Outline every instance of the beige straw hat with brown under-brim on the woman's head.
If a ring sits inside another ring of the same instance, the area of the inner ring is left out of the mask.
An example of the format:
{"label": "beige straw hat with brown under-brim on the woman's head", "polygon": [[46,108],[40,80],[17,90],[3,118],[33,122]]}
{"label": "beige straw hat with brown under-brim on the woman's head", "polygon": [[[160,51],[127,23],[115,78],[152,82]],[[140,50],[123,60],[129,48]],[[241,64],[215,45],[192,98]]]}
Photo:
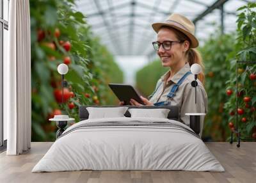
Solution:
{"label": "beige straw hat with brown under-brim on the woman's head", "polygon": [[173,13],[164,22],[156,22],[152,24],[152,28],[156,31],[156,33],[158,33],[162,26],[172,27],[181,31],[191,40],[192,48],[198,47],[198,40],[195,37],[195,25],[186,17],[178,13]]}

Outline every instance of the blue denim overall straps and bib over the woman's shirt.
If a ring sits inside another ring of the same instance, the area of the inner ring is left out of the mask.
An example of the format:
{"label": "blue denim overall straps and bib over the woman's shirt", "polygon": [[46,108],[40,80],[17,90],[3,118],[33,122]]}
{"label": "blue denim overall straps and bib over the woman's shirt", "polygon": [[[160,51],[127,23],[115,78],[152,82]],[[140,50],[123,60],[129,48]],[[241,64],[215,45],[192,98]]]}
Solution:
{"label": "blue denim overall straps and bib over the woman's shirt", "polygon": [[[167,95],[168,98],[172,99],[172,97],[174,97],[174,95],[177,92],[180,84],[184,81],[184,79],[186,79],[186,77],[189,74],[192,74],[192,73],[190,71],[186,72],[186,74],[184,74],[184,76],[182,76],[180,78],[178,83],[173,85],[172,89],[170,90],[170,93],[168,93],[168,95]],[[161,83],[163,83],[163,82],[161,82]],[[158,90],[159,86],[161,86],[161,83],[158,84],[158,86],[156,87],[156,90],[149,97],[152,97],[156,93],[156,91]],[[168,101],[168,100],[154,103],[154,106],[170,106],[170,105],[171,105],[171,101]]]}

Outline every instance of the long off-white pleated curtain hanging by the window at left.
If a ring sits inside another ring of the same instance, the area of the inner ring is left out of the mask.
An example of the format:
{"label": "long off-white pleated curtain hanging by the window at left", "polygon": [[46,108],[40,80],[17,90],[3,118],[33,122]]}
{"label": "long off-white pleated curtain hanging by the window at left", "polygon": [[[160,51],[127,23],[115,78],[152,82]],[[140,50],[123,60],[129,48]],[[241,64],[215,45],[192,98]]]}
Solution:
{"label": "long off-white pleated curtain hanging by the window at left", "polygon": [[10,1],[8,60],[4,63],[4,120],[8,155],[31,146],[31,52],[29,0]]}

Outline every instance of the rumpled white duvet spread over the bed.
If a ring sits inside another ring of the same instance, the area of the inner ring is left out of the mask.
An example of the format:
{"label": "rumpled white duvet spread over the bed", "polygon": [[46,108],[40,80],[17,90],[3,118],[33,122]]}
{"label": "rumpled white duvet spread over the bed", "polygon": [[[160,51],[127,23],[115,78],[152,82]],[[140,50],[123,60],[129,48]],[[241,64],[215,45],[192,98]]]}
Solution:
{"label": "rumpled white duvet spread over the bed", "polygon": [[[93,122],[169,122],[163,118],[101,118],[69,127],[32,172],[72,170],[225,171],[202,139],[179,128],[111,126],[78,128]],[[74,130],[76,129],[76,130]]]}

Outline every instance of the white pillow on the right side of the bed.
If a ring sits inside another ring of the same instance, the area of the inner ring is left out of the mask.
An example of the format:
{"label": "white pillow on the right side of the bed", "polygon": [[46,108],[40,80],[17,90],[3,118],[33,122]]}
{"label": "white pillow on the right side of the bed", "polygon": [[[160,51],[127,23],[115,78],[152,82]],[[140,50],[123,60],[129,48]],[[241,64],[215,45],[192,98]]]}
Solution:
{"label": "white pillow on the right side of the bed", "polygon": [[150,118],[167,118],[170,109],[128,109],[131,118],[150,117]]}

